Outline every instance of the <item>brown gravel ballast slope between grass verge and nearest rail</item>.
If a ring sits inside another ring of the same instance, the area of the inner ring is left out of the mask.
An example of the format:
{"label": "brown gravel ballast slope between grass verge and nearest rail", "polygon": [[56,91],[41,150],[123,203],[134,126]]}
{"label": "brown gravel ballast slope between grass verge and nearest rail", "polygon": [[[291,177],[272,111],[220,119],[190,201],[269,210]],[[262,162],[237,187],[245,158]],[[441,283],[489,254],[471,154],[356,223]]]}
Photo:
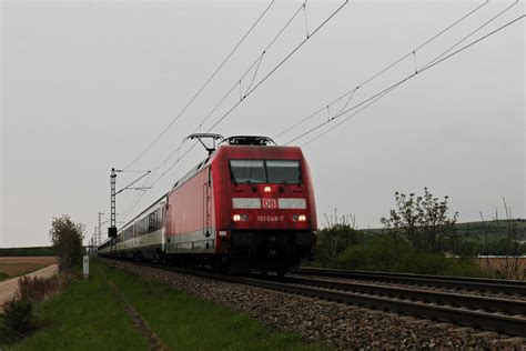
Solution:
{"label": "brown gravel ballast slope between grass verge and nearest rail", "polygon": [[115,262],[143,279],[243,311],[271,328],[299,332],[306,341],[336,349],[502,349],[526,350],[526,340],[449,323],[414,319],[353,305],[232,284],[155,268]]}

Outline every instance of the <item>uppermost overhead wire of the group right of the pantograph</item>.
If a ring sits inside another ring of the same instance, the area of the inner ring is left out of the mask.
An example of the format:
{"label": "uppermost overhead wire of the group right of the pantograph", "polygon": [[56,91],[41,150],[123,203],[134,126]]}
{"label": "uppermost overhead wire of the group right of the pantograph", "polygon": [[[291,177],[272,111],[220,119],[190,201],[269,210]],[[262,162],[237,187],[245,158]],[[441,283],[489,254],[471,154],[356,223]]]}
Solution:
{"label": "uppermost overhead wire of the group right of the pantograph", "polygon": [[[429,44],[431,42],[435,41],[436,39],[438,39],[441,36],[443,36],[444,33],[448,32],[451,29],[453,29],[455,26],[457,26],[458,23],[461,23],[462,21],[464,21],[465,19],[469,18],[471,16],[473,16],[474,13],[476,13],[477,11],[479,11],[483,7],[485,7],[489,1],[486,0],[485,2],[483,2],[482,4],[478,4],[476,6],[474,9],[469,10],[467,13],[463,14],[459,19],[457,19],[456,21],[454,21],[452,24],[447,26],[446,28],[444,28],[443,30],[441,30],[438,33],[436,33],[435,36],[433,36],[432,38],[427,39],[425,42],[421,43],[419,46],[417,46],[415,49],[411,50],[408,53],[404,54],[403,57],[398,58],[397,60],[395,60],[394,62],[387,64],[385,68],[381,69],[378,72],[374,73],[373,76],[371,76],[370,78],[365,79],[363,82],[361,82],[360,84],[355,86],[353,89],[346,91],[345,93],[343,93],[342,96],[337,97],[336,99],[332,100],[331,102],[324,104],[322,108],[320,108],[318,110],[312,112],[311,114],[306,116],[305,118],[302,118],[300,119],[297,122],[293,123],[292,126],[287,127],[286,129],[284,129],[283,131],[281,131],[280,133],[277,133],[276,136],[272,137],[272,139],[276,140],[277,138],[284,136],[285,133],[287,133],[289,131],[295,129],[296,127],[305,123],[306,121],[311,120],[312,118],[314,118],[315,116],[317,116],[320,112],[326,110],[328,107],[337,103],[338,101],[341,101],[342,99],[346,98],[346,97],[350,97],[347,99],[347,102],[344,104],[344,107],[338,111],[338,113],[345,109],[345,107],[348,104],[348,102],[351,101],[352,97],[355,94],[355,92],[360,89],[360,88],[363,88],[365,87],[366,84],[368,84],[370,82],[372,82],[374,79],[376,79],[377,77],[382,76],[383,73],[387,72],[388,70],[391,70],[392,68],[394,68],[395,66],[397,66],[398,63],[401,63],[402,61],[404,61],[405,59],[407,59],[408,57],[411,56],[414,56],[416,53],[416,51],[423,49],[424,47],[426,47],[427,44]],[[336,114],[338,114],[336,113]]]}

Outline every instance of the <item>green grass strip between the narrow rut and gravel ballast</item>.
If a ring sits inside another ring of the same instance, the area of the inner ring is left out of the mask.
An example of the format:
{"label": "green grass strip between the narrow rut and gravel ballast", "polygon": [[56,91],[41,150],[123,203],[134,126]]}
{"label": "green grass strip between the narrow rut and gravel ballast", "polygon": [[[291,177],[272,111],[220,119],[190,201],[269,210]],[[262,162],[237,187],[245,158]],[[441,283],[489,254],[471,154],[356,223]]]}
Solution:
{"label": "green grass strip between the narrow rut and gravel ballast", "polygon": [[172,350],[322,350],[244,313],[95,263]]}

